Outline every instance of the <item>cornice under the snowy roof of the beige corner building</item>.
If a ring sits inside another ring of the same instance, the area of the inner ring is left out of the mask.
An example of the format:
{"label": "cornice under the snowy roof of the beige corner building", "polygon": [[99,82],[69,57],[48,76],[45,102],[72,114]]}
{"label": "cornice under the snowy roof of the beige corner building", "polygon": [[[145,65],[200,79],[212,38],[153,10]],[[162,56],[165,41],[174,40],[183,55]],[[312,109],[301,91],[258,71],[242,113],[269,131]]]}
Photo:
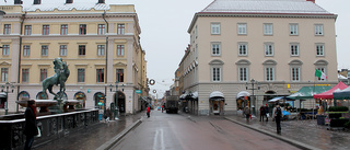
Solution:
{"label": "cornice under the snowy roof of the beige corner building", "polygon": [[334,19],[337,14],[323,13],[245,13],[245,12],[198,12],[195,14],[187,33],[190,34],[198,18],[288,18],[288,19]]}

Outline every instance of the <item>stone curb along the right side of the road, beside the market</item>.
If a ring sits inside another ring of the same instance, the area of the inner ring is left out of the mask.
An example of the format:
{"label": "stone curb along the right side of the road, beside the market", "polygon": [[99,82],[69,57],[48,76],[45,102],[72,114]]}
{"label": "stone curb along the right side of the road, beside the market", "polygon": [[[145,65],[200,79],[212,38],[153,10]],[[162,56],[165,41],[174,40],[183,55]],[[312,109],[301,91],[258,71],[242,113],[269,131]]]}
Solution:
{"label": "stone curb along the right side of the road, beside the market", "polygon": [[232,118],[229,118],[229,117],[224,117],[224,118],[228,119],[228,120],[230,120],[230,122],[232,122],[232,123],[235,123],[235,124],[238,124],[238,125],[241,125],[241,126],[244,126],[244,127],[246,127],[246,128],[249,128],[249,129],[259,131],[259,132],[261,132],[261,134],[265,134],[265,135],[267,135],[267,136],[270,136],[270,137],[277,138],[277,139],[279,139],[279,140],[282,140],[282,141],[284,141],[284,142],[287,142],[287,143],[290,143],[290,145],[295,146],[295,147],[298,147],[298,148],[301,148],[301,149],[303,149],[303,150],[320,150],[320,149],[315,148],[315,147],[313,147],[313,146],[308,146],[308,145],[305,145],[305,143],[303,143],[303,142],[300,142],[300,141],[290,139],[290,138],[285,138],[285,137],[282,137],[282,136],[272,134],[272,132],[270,132],[270,131],[266,131],[266,130],[262,130],[262,129],[253,127],[253,126],[245,125],[245,124],[243,124],[243,123],[241,123],[241,122],[237,122],[237,120],[232,119]]}

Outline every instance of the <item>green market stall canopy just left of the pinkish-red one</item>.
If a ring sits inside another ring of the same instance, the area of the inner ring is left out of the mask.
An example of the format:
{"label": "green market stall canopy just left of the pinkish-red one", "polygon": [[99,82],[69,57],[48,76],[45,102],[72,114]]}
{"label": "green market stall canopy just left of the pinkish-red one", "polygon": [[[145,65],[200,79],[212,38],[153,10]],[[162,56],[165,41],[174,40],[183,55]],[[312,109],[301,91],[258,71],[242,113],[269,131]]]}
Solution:
{"label": "green market stall canopy just left of the pinkish-red one", "polygon": [[314,99],[314,94],[323,93],[330,90],[329,85],[315,85],[315,86],[303,86],[296,93],[287,96],[287,99],[291,100],[307,100]]}

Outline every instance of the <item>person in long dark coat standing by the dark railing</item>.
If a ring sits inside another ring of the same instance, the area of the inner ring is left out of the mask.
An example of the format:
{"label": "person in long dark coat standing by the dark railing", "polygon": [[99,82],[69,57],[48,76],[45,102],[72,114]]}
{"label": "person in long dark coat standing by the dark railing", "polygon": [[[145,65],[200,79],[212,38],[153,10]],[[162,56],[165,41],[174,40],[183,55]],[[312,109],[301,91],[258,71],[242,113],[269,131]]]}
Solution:
{"label": "person in long dark coat standing by the dark railing", "polygon": [[38,135],[37,126],[36,126],[36,107],[35,101],[27,101],[27,107],[24,113],[25,123],[24,123],[24,131],[25,135],[25,145],[24,150],[30,150],[33,146],[34,136]]}

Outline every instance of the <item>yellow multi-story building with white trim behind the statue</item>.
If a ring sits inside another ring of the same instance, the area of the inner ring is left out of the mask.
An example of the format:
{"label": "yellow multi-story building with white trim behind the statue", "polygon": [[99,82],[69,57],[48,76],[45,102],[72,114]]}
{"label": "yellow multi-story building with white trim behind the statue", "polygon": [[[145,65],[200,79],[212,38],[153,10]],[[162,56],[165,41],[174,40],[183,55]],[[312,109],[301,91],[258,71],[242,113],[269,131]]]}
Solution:
{"label": "yellow multi-story building with white trim behind the statue", "polygon": [[[70,70],[68,100],[80,100],[86,108],[113,103],[126,114],[141,108],[140,97],[149,90],[133,4],[105,0],[8,0],[0,4],[5,12],[0,25],[0,83],[15,85],[8,96],[9,112],[21,109],[18,100],[43,99],[42,81],[55,74],[52,60],[58,57]],[[54,86],[54,92],[58,90]]]}

